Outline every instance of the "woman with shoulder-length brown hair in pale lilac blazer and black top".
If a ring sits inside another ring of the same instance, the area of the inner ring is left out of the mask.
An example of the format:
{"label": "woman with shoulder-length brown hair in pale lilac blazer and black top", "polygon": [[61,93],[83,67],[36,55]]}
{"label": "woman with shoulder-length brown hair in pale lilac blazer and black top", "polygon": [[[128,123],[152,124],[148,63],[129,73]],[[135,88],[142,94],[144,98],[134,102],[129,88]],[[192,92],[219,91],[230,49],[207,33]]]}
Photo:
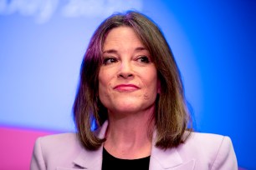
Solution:
{"label": "woman with shoulder-length brown hair in pale lilac blazer and black top", "polygon": [[96,29],[74,122],[77,133],[38,138],[31,169],[238,169],[230,138],[187,130],[177,63],[141,13],[115,14]]}

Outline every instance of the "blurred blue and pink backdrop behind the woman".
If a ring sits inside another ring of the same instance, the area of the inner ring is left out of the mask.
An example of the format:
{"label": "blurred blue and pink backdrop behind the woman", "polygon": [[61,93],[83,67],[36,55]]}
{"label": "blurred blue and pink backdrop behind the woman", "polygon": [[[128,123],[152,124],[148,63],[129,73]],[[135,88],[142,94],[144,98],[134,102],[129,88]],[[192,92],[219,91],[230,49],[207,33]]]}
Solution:
{"label": "blurred blue and pink backdrop behind the woman", "polygon": [[131,9],[153,19],[172,47],[195,130],[229,136],[239,166],[256,169],[256,1],[249,0],[0,0],[0,168],[12,152],[17,163],[30,155],[38,136],[75,131],[72,105],[90,37],[110,14]]}

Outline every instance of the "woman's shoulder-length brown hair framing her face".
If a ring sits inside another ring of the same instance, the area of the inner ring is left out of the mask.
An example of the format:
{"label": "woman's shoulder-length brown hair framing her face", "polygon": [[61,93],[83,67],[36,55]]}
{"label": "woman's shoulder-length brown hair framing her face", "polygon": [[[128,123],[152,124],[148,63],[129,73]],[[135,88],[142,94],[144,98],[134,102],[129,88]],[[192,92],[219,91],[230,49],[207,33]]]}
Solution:
{"label": "woman's shoulder-length brown hair framing her face", "polygon": [[[183,143],[188,122],[182,78],[172,50],[160,28],[144,14],[129,11],[106,18],[95,30],[84,54],[80,69],[80,82],[74,100],[74,122],[80,142],[84,148],[100,148],[105,139],[97,138],[91,130],[93,120],[99,128],[108,118],[107,108],[99,100],[99,70],[102,64],[102,47],[107,33],[121,26],[133,28],[141,42],[149,50],[156,65],[157,76],[161,82],[161,93],[156,99],[156,147],[166,149]],[[189,134],[189,133],[187,133]]]}

